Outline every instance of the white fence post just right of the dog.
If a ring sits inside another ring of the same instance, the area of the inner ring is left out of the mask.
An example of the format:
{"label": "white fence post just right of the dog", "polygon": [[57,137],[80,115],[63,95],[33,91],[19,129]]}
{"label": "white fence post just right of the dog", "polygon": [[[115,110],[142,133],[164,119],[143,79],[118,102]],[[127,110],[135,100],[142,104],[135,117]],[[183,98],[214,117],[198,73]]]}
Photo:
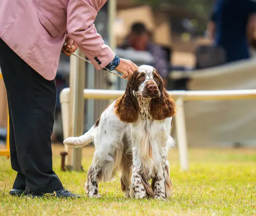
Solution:
{"label": "white fence post just right of the dog", "polygon": [[188,162],[188,147],[187,147],[187,137],[186,137],[186,124],[184,115],[184,101],[182,97],[176,100],[177,114],[175,116],[175,125],[177,131],[177,141],[180,156],[180,167],[181,170],[189,169]]}

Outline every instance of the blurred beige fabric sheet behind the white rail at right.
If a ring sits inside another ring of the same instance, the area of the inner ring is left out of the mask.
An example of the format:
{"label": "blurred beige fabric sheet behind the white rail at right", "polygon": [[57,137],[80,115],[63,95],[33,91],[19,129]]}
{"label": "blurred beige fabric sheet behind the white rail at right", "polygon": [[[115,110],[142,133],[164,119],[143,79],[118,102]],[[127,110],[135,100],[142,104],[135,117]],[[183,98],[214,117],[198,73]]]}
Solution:
{"label": "blurred beige fabric sheet behind the white rail at right", "polygon": [[[256,89],[253,60],[204,69],[187,76],[189,90]],[[256,146],[256,100],[187,101],[184,104],[189,146]]]}

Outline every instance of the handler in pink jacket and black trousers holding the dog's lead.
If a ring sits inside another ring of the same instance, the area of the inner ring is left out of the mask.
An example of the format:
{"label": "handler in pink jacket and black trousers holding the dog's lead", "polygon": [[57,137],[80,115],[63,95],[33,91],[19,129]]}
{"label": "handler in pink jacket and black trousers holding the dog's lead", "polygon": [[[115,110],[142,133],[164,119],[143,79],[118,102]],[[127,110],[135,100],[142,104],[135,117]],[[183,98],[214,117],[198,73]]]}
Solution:
{"label": "handler in pink jacket and black trousers holding the dog's lead", "polygon": [[105,3],[0,0],[0,67],[9,103],[11,164],[17,172],[12,195],[80,197],[65,190],[52,170],[54,79],[61,50],[70,55],[78,47],[96,69],[115,69],[124,78],[133,74],[137,66],[116,56],[96,32],[93,22]]}

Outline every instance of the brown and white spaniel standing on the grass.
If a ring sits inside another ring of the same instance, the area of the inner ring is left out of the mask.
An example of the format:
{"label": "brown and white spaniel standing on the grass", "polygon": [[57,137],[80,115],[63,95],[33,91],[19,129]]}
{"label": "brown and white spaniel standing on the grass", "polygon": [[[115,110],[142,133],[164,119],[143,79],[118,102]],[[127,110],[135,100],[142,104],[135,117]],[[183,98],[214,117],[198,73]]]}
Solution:
{"label": "brown and white spaniel standing on the grass", "polygon": [[64,140],[73,147],[94,142],[93,164],[85,183],[87,194],[100,197],[98,181],[110,181],[119,171],[126,197],[168,198],[172,182],[167,152],[174,145],[171,130],[175,112],[175,103],[157,70],[140,66],[124,95],[105,109],[88,132]]}

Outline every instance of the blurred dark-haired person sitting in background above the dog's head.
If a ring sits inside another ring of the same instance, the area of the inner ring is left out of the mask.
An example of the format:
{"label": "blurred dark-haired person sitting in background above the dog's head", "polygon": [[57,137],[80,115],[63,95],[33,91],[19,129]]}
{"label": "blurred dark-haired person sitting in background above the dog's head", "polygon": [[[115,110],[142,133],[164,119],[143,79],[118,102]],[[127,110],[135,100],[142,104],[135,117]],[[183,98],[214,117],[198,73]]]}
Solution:
{"label": "blurred dark-haired person sitting in background above the dog's head", "polygon": [[131,33],[125,38],[120,48],[133,48],[137,51],[148,51],[154,58],[154,64],[151,66],[157,69],[160,76],[163,78],[164,87],[167,87],[169,68],[167,53],[150,40],[150,34],[143,23],[134,23],[131,26]]}

